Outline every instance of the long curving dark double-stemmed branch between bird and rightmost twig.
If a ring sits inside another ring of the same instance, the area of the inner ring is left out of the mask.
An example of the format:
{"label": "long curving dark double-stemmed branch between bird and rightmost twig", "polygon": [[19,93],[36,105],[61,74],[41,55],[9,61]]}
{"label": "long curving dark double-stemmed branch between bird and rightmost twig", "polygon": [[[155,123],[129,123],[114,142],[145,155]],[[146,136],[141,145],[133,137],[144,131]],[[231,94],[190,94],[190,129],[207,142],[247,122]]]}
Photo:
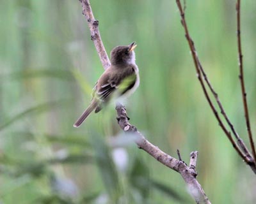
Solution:
{"label": "long curving dark double-stemmed branch between bird and rightmost twig", "polygon": [[[192,57],[193,57],[195,68],[196,68],[197,77],[198,77],[200,85],[201,85],[201,87],[202,87],[202,89],[204,91],[205,98],[207,99],[207,101],[208,101],[208,103],[209,103],[209,105],[210,105],[210,107],[212,109],[212,112],[214,113],[216,119],[218,120],[218,122],[219,122],[221,128],[223,129],[225,135],[227,136],[228,140],[230,140],[230,142],[232,143],[232,146],[234,147],[234,149],[237,151],[239,156],[241,156],[243,158],[243,160],[248,165],[250,165],[250,167],[252,168],[253,172],[256,173],[255,164],[253,162],[252,156],[250,155],[250,152],[246,148],[246,145],[244,144],[243,140],[237,134],[236,130],[234,129],[233,124],[228,119],[227,114],[225,113],[225,110],[223,109],[223,106],[221,105],[220,99],[218,98],[218,94],[216,93],[216,91],[214,91],[211,83],[209,82],[209,80],[207,78],[207,75],[205,74],[204,68],[202,67],[202,64],[200,63],[200,61],[198,59],[198,55],[197,55],[197,52],[196,52],[196,49],[195,49],[195,44],[194,44],[193,40],[191,39],[191,37],[189,35],[188,26],[186,24],[185,13],[184,13],[184,10],[183,10],[183,8],[181,6],[181,3],[180,3],[179,0],[176,0],[176,3],[177,3],[177,6],[179,8],[179,11],[180,11],[181,23],[182,23],[182,25],[184,27],[184,31],[185,31],[185,34],[186,34],[186,39],[188,40],[189,48],[191,50],[191,54],[192,54]],[[220,115],[218,114],[215,106],[213,105],[213,103],[211,101],[211,98],[209,97],[209,94],[208,94],[207,89],[205,87],[202,75],[203,75],[206,84],[208,85],[209,89],[211,90],[212,95],[214,96],[214,98],[215,98],[215,100],[216,100],[216,102],[217,102],[217,104],[218,104],[218,106],[219,106],[219,108],[221,110],[221,114],[224,116],[225,120],[228,123],[228,126],[230,127],[230,129],[232,130],[232,133],[236,137],[237,143],[234,142],[234,139],[232,138],[230,132],[227,130],[227,128],[223,124],[223,121],[221,120]],[[241,149],[239,147],[241,147]],[[243,152],[242,152],[242,150],[243,150]]]}

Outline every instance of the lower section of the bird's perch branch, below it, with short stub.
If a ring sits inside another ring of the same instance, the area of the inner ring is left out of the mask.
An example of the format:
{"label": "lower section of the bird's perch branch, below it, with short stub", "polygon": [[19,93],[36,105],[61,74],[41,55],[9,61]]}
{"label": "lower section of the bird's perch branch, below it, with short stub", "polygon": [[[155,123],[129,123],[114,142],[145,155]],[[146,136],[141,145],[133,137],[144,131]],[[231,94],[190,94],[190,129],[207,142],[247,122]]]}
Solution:
{"label": "lower section of the bird's perch branch, below it, with short stub", "polygon": [[193,196],[193,198],[195,198],[196,203],[211,203],[205,195],[204,189],[202,189],[202,187],[196,180],[197,173],[195,173],[195,167],[197,152],[191,152],[191,164],[190,166],[187,166],[186,163],[181,161],[179,153],[179,159],[175,159],[174,157],[163,152],[152,143],[148,142],[148,140],[137,130],[137,128],[129,123],[127,113],[123,105],[116,105],[116,112],[118,115],[116,119],[118,120],[120,128],[122,128],[125,133],[133,133],[134,135],[136,135],[137,138],[135,140],[135,143],[140,149],[143,149],[145,152],[150,154],[157,161],[164,164],[168,168],[171,168],[172,170],[180,173],[188,186],[189,193]]}

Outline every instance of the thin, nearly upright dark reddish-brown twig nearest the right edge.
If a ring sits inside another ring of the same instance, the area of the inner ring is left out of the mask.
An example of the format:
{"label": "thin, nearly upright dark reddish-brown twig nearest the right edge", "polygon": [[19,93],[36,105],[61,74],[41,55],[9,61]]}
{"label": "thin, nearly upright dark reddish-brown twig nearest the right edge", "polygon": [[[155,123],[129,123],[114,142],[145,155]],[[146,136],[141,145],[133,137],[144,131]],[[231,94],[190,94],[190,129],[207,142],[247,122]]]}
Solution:
{"label": "thin, nearly upright dark reddish-brown twig nearest the right edge", "polygon": [[255,152],[255,145],[253,142],[252,137],[252,131],[251,131],[251,125],[250,125],[250,117],[248,112],[248,105],[247,105],[247,99],[246,99],[246,90],[244,86],[244,73],[243,73],[243,54],[242,54],[242,46],[241,46],[241,20],[240,20],[240,0],[237,0],[236,3],[236,17],[237,17],[237,50],[238,50],[238,60],[239,60],[239,80],[241,84],[241,91],[242,91],[242,97],[243,97],[243,105],[244,105],[244,117],[246,121],[246,127],[247,132],[250,140],[250,145],[252,149],[253,159],[254,163],[256,164],[256,152]]}

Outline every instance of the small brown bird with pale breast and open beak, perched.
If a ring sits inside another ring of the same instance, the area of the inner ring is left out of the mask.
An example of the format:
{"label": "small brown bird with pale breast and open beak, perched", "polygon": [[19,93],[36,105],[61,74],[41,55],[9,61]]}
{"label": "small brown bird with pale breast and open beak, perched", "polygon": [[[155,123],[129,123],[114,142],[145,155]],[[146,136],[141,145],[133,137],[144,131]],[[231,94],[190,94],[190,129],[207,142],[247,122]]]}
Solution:
{"label": "small brown bird with pale breast and open beak, perched", "polygon": [[127,98],[140,85],[139,69],[135,62],[132,42],[127,46],[117,46],[111,50],[111,66],[97,80],[92,93],[92,101],[74,123],[78,128],[93,110],[98,113],[111,98]]}

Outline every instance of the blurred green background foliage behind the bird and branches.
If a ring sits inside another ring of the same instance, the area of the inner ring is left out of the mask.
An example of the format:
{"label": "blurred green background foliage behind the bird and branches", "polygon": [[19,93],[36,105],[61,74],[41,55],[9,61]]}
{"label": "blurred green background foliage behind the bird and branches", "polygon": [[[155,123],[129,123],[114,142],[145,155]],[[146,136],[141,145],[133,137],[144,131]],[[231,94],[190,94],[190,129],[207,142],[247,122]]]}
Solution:
{"label": "blurred green background foliage behind the bird and branches", "polygon": [[[94,0],[109,54],[136,41],[141,84],[131,123],[171,156],[199,151],[198,181],[212,203],[253,203],[256,179],[218,126],[196,78],[175,1]],[[242,1],[244,77],[255,135],[256,4]],[[198,55],[246,144],[235,1],[188,1]],[[77,0],[0,2],[0,202],[194,203],[180,175],[124,136],[115,107],[72,124],[102,65]],[[249,147],[249,146],[248,146]]]}

